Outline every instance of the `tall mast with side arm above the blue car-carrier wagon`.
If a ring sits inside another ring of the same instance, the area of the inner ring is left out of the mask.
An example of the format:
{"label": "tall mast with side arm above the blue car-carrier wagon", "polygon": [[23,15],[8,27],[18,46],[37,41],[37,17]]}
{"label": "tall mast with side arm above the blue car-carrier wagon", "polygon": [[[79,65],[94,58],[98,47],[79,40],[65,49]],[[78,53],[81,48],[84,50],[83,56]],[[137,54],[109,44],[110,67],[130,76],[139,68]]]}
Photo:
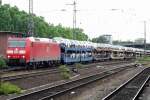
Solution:
{"label": "tall mast with side arm above the blue car-carrier wagon", "polygon": [[66,5],[72,5],[73,6],[73,39],[76,39],[76,16],[77,16],[77,3],[74,0],[73,4],[66,4]]}

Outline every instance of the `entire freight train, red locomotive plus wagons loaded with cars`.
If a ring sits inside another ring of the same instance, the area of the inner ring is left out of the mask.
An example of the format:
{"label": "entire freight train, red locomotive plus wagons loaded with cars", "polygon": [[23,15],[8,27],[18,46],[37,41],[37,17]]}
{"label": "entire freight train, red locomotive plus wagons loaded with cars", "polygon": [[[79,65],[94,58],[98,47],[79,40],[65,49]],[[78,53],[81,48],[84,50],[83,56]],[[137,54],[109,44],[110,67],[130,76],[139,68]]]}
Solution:
{"label": "entire freight train, red locomotive plus wagons loaded with cars", "polygon": [[61,37],[9,38],[7,47],[9,64],[39,65],[71,64],[105,60],[135,59],[144,54],[142,49],[69,40]]}

